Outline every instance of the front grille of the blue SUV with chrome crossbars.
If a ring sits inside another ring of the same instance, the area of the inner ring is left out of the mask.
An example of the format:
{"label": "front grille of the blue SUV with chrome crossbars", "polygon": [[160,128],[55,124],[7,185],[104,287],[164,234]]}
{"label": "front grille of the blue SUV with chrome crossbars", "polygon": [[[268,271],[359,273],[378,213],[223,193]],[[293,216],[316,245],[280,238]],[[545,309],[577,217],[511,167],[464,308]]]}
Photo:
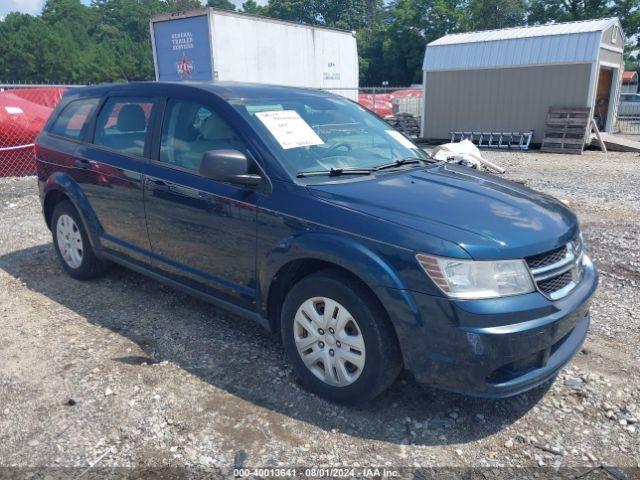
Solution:
{"label": "front grille of the blue SUV with chrome crossbars", "polygon": [[525,259],[543,295],[558,300],[578,285],[582,274],[582,250],[582,240],[578,237],[563,247]]}

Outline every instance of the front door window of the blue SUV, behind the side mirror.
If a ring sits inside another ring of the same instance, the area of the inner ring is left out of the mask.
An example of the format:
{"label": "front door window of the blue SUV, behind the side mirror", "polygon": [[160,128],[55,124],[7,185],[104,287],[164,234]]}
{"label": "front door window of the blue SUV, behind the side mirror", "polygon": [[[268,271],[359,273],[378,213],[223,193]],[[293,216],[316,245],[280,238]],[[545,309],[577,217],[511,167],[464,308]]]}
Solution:
{"label": "front door window of the blue SUV, behind the side mirror", "polygon": [[246,151],[227,122],[198,102],[169,100],[162,125],[161,162],[198,171],[205,152],[224,149]]}

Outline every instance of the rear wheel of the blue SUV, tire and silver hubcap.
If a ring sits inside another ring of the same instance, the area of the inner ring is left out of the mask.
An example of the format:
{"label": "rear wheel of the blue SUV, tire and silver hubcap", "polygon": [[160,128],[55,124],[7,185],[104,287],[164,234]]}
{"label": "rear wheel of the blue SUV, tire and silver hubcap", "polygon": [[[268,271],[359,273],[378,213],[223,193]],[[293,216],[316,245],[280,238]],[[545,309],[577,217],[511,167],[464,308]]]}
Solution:
{"label": "rear wheel of the blue SUV, tire and silver hubcap", "polygon": [[90,280],[107,270],[107,263],[96,257],[80,215],[68,200],[58,203],[53,210],[51,232],[53,246],[69,276]]}

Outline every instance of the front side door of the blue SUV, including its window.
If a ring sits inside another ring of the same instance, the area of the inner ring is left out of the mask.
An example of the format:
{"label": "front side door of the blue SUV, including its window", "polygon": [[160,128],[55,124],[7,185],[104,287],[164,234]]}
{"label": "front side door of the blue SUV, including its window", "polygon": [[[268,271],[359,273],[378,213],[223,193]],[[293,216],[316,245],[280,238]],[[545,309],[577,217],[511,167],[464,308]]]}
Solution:
{"label": "front side door of the blue SUV, including its window", "polygon": [[258,193],[198,174],[209,150],[246,151],[210,106],[170,99],[145,178],[153,268],[184,285],[255,308]]}

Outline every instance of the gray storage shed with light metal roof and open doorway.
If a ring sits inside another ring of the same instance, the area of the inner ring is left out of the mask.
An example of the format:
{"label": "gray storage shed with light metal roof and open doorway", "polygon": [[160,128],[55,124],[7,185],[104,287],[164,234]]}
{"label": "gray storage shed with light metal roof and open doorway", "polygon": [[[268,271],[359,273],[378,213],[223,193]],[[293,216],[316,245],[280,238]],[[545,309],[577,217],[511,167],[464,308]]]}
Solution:
{"label": "gray storage shed with light metal roof and open doorway", "polygon": [[617,18],[446,35],[427,45],[422,137],[453,131],[544,137],[550,107],[589,107],[611,131],[622,83]]}

